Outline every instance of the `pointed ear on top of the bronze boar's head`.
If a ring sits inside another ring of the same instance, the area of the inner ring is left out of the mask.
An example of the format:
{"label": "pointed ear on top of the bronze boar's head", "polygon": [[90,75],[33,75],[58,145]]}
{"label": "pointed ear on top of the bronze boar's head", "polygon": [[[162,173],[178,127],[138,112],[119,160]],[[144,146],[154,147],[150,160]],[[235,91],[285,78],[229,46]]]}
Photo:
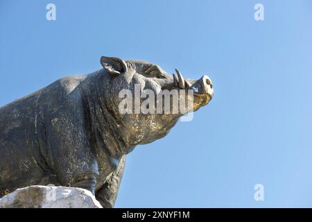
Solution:
{"label": "pointed ear on top of the bronze boar's head", "polygon": [[106,69],[106,71],[114,76],[123,74],[127,70],[127,65],[125,64],[125,61],[123,61],[121,58],[102,56],[101,65],[104,69]]}

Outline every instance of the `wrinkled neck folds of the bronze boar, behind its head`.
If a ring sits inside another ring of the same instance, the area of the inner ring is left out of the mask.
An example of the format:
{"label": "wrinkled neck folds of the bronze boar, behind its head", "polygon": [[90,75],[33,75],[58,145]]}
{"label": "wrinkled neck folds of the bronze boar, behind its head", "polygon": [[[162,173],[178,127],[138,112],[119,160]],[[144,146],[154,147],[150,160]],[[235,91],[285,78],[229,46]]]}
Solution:
{"label": "wrinkled neck folds of the bronze boar, behind its head", "polygon": [[[83,94],[85,100],[85,117],[89,129],[92,132],[92,141],[97,148],[101,148],[111,157],[119,159],[121,155],[127,154],[134,147],[127,147],[121,137],[122,130],[116,126],[122,126],[116,118],[116,113],[112,110],[112,103],[105,98],[107,93],[103,87],[102,80],[99,79],[99,72],[90,74],[83,84]],[[108,105],[110,105],[110,107]]]}

